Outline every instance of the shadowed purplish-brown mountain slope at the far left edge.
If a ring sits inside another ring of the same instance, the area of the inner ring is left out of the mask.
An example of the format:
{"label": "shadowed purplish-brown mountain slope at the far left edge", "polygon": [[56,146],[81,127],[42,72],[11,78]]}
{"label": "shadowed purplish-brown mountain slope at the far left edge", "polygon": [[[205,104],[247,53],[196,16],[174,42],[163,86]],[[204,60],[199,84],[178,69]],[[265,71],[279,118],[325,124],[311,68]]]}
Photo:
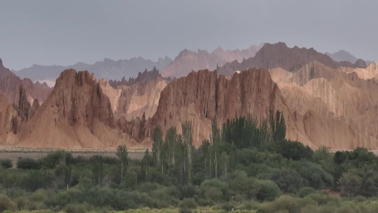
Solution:
{"label": "shadowed purplish-brown mountain slope at the far left edge", "polygon": [[9,69],[3,66],[0,59],[0,93],[7,97],[9,103],[17,104],[19,102],[19,87],[22,85],[26,90],[26,96],[30,104],[34,99],[38,99],[40,103],[46,100],[51,88],[45,83],[34,84],[29,78],[21,80],[17,75],[13,74]]}

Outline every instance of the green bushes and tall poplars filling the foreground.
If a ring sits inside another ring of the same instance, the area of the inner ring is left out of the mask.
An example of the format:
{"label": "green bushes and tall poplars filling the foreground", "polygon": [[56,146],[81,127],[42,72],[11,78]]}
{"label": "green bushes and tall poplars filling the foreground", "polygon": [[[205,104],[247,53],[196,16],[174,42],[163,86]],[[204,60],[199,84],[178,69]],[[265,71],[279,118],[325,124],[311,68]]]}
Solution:
{"label": "green bushes and tall poplars filling the foreground", "polygon": [[[222,128],[219,128],[221,126]],[[0,160],[0,212],[358,212],[378,209],[378,157],[367,149],[331,153],[285,139],[282,114],[212,121],[196,149],[182,134],[153,131],[151,152],[131,160],[58,151],[17,168]],[[4,162],[4,163],[3,163]]]}

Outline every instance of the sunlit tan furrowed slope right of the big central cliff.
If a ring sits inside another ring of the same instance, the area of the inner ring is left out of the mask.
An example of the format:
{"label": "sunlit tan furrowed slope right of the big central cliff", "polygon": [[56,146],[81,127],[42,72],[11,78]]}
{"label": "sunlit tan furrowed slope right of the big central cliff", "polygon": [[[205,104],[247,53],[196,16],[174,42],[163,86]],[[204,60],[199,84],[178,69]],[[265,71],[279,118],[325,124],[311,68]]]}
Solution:
{"label": "sunlit tan furrowed slope right of the big central cliff", "polygon": [[[314,70],[313,77],[294,78],[309,68]],[[290,110],[304,115],[297,126],[304,127],[304,135],[315,145],[377,149],[378,81],[364,80],[356,72],[334,70],[318,62],[306,64],[293,77],[273,79]]]}

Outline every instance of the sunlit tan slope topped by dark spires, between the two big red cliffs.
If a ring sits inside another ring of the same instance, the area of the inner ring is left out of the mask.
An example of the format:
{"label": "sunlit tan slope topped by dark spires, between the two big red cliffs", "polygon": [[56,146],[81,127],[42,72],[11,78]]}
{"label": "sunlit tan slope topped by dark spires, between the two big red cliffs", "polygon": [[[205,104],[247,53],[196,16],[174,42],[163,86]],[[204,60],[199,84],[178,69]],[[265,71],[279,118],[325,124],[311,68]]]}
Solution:
{"label": "sunlit tan slope topped by dark spires, between the two big red cliffs", "polygon": [[136,117],[152,117],[158,107],[160,92],[169,83],[154,67],[151,71],[139,72],[137,78],[109,82],[101,79],[100,86],[110,99],[115,117],[125,116],[127,120]]}

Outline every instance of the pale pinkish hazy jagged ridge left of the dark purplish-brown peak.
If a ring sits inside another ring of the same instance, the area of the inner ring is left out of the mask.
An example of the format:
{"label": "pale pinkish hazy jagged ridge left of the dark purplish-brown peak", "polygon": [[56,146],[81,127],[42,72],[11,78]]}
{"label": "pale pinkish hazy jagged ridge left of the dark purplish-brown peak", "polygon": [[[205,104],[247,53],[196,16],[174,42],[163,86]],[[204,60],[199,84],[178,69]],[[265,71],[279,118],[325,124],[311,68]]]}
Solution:
{"label": "pale pinkish hazy jagged ridge left of the dark purplish-brown peak", "polygon": [[214,70],[217,66],[230,61],[242,61],[243,58],[250,58],[256,55],[264,44],[252,45],[244,50],[223,50],[221,47],[215,49],[212,53],[206,50],[198,49],[197,52],[190,50],[181,51],[169,66],[163,69],[162,75],[167,77],[186,76],[192,70],[209,69]]}

